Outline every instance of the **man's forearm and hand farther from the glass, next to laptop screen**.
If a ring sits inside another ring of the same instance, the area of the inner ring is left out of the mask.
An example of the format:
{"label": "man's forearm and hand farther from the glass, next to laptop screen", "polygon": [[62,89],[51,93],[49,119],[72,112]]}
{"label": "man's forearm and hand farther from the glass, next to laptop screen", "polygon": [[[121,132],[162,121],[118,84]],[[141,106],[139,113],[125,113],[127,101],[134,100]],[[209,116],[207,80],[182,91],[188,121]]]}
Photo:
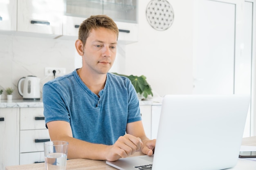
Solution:
{"label": "man's forearm and hand farther from the glass, next to laptop screen", "polygon": [[152,155],[153,149],[155,148],[156,139],[150,140],[146,137],[142,121],[135,121],[128,123],[126,127],[126,132],[135,137],[139,137],[143,143],[141,146],[141,152],[146,155]]}

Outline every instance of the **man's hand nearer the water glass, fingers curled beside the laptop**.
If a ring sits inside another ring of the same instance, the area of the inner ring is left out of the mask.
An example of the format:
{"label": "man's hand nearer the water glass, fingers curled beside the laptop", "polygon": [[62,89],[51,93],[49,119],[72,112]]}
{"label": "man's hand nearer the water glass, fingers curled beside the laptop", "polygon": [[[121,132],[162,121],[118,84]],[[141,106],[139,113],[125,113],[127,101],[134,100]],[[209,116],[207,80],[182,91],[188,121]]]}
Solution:
{"label": "man's hand nearer the water glass, fingers curled beside the laptop", "polygon": [[116,161],[119,158],[126,158],[142,146],[141,139],[129,134],[121,136],[117,139],[114,145],[109,146],[106,150],[106,160]]}

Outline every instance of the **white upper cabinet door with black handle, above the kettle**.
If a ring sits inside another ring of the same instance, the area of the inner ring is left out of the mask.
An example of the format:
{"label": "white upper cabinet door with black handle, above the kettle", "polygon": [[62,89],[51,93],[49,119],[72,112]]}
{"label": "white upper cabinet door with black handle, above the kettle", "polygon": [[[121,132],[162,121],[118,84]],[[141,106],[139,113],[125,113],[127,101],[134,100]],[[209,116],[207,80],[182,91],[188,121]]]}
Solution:
{"label": "white upper cabinet door with black handle, above the kettle", "polygon": [[62,35],[63,0],[18,0],[17,31]]}

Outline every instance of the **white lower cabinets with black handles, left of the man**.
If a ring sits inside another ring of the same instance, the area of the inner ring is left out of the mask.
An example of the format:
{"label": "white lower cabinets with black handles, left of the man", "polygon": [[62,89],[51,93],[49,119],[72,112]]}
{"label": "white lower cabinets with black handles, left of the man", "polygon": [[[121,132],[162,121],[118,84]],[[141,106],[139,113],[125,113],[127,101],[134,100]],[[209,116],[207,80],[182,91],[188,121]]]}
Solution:
{"label": "white lower cabinets with black handles, left of the man", "polygon": [[0,134],[0,170],[45,161],[43,142],[50,137],[43,107],[0,108]]}

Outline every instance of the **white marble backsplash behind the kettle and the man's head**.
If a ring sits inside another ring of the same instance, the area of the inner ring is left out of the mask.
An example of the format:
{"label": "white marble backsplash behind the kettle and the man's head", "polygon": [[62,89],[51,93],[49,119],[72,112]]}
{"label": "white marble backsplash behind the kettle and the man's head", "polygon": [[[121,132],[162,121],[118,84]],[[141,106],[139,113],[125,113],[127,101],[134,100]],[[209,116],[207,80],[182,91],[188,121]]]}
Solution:
{"label": "white marble backsplash behind the kettle and the man's head", "polygon": [[[21,77],[34,75],[40,78],[42,88],[53,76],[45,76],[45,67],[66,68],[66,73],[81,66],[76,53],[75,40],[37,38],[17,35],[0,35],[0,89],[12,87],[13,99],[22,99],[17,84]],[[120,48],[121,47],[121,48]],[[125,46],[119,45],[114,66],[110,71],[124,73]],[[1,99],[6,99],[4,91]]]}

